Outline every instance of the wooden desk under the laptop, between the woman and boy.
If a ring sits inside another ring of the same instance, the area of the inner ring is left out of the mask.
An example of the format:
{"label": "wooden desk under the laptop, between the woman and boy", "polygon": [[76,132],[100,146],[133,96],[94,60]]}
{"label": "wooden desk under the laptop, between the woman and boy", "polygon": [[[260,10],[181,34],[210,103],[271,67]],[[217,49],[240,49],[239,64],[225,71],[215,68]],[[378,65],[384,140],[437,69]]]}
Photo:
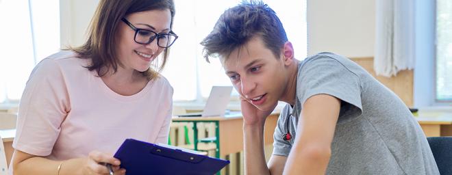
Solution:
{"label": "wooden desk under the laptop, between the woman and boy", "polygon": [[[273,132],[275,131],[279,112],[271,113],[265,122],[264,145],[273,144]],[[228,117],[184,117],[173,118],[173,122],[193,122],[194,149],[197,150],[197,122],[216,123],[216,157],[225,157],[243,150],[243,118],[241,115]]]}

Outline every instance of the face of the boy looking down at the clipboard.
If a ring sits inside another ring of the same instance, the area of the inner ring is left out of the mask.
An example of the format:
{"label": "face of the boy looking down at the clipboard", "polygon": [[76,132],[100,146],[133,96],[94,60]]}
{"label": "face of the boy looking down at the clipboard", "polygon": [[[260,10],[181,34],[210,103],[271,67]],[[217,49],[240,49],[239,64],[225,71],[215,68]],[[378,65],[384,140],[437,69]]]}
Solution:
{"label": "face of the boy looking down at the clipboard", "polygon": [[252,38],[229,57],[221,58],[226,75],[237,92],[262,111],[273,110],[288,82],[286,66],[267,49],[260,37]]}

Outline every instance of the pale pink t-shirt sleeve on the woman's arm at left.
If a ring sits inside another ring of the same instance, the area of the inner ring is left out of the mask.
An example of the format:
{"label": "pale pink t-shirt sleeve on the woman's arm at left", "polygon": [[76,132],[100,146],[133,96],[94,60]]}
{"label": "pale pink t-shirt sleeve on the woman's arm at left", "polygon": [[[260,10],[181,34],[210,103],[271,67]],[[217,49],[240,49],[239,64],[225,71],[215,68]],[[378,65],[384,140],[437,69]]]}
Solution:
{"label": "pale pink t-shirt sleeve on the woman's arm at left", "polygon": [[25,85],[13,147],[37,156],[49,155],[70,111],[68,99],[60,66],[53,59],[43,59]]}

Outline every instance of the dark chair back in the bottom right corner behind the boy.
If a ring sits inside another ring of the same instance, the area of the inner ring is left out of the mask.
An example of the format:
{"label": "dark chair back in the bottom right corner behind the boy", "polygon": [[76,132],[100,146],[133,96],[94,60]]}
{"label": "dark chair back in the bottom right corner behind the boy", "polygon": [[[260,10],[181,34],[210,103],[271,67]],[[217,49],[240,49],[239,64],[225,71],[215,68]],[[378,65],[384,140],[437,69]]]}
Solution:
{"label": "dark chair back in the bottom right corner behind the boy", "polygon": [[452,137],[427,137],[440,174],[452,174]]}

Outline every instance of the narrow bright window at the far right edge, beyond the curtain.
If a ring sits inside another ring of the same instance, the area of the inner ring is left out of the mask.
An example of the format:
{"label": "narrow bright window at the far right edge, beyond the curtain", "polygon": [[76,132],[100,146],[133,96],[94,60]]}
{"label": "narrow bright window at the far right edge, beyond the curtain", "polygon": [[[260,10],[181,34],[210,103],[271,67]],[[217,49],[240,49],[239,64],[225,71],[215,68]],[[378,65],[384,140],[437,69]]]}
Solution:
{"label": "narrow bright window at the far right edge, beyond the curtain", "polygon": [[436,1],[436,100],[452,102],[452,1]]}

